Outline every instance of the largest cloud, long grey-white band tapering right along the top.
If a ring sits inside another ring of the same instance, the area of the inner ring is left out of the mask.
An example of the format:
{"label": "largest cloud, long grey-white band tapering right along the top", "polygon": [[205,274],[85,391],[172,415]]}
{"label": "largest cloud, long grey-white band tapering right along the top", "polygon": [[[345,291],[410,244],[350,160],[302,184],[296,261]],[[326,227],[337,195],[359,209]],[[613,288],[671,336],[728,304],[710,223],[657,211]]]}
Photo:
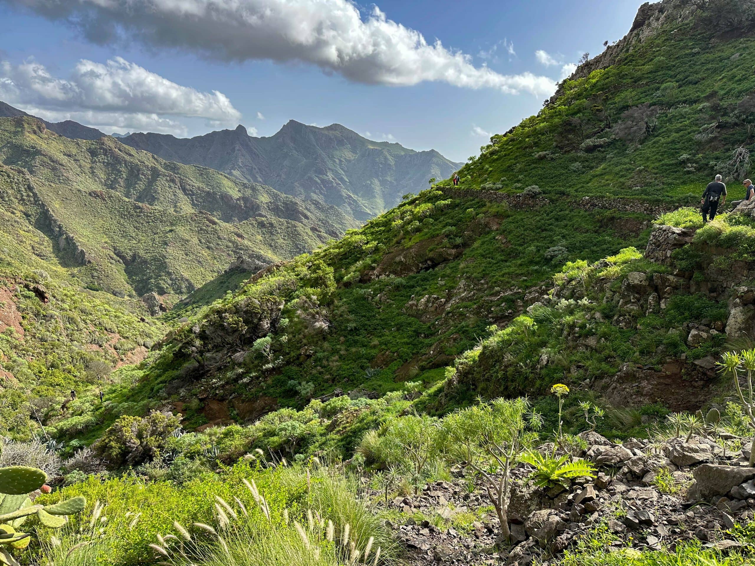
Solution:
{"label": "largest cloud, long grey-white band tapering right along the top", "polygon": [[[427,42],[377,7],[350,0],[0,0],[78,28],[98,44],[139,41],[226,61],[301,61],[367,84],[448,82],[507,94],[551,94],[555,81],[502,75]],[[511,48],[513,50],[513,47]]]}

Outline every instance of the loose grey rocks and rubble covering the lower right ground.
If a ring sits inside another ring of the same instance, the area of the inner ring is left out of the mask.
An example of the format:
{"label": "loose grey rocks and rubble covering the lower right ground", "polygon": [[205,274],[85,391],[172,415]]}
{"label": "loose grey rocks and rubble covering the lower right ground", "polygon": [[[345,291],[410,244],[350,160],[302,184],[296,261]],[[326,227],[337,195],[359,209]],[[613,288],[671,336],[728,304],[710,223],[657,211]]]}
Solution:
{"label": "loose grey rocks and rubble covering the lower right ground", "polygon": [[[755,468],[748,466],[748,450],[724,455],[718,436],[624,444],[595,432],[581,436],[588,449],[577,455],[596,464],[596,478],[541,489],[525,481],[529,466],[516,469],[510,546],[496,547],[498,518],[482,485],[460,470],[453,472],[453,481],[436,481],[419,495],[390,500],[387,506],[401,518],[390,526],[405,543],[410,563],[523,566],[537,558],[555,564],[564,549],[599,524],[617,536],[616,550],[673,549],[693,538],[724,550],[741,546],[729,529],[751,520],[755,511]],[[667,470],[665,482],[656,481],[661,469]],[[473,516],[474,521],[458,520]]]}

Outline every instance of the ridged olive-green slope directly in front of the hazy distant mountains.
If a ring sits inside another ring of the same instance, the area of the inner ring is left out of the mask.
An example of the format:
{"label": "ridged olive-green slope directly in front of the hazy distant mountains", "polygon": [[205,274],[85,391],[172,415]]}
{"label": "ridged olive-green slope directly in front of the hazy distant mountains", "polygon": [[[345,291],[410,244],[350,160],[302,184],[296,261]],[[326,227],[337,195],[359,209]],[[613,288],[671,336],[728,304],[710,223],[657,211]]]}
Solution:
{"label": "ridged olive-green slope directly in front of the hazy distant mountains", "polygon": [[0,118],[0,162],[28,172],[23,189],[3,192],[7,206],[48,233],[86,285],[121,296],[185,295],[236,257],[294,257],[354,224],[112,137],[69,140],[35,118]]}

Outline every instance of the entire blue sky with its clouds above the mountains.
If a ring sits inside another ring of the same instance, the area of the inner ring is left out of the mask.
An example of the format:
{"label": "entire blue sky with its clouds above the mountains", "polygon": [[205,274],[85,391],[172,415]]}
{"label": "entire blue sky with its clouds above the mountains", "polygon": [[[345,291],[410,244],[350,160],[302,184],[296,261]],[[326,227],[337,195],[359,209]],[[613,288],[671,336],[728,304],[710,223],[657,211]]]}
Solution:
{"label": "entire blue sky with its clouds above the mountains", "polygon": [[0,0],[0,100],[106,134],[338,123],[466,161],[642,3]]}

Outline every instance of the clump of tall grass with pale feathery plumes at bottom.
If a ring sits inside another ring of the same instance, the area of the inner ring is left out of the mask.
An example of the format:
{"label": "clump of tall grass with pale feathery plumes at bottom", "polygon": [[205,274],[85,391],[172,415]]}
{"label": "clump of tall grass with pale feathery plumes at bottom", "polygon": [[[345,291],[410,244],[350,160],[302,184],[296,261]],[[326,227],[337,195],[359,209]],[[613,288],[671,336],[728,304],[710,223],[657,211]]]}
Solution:
{"label": "clump of tall grass with pale feathery plumes at bottom", "polygon": [[[359,481],[330,469],[279,468],[297,503],[271,508],[254,480],[242,490],[253,504],[215,497],[213,524],[174,524],[152,548],[167,564],[190,566],[338,566],[390,564],[398,552],[381,515],[359,497]],[[240,496],[241,494],[239,494]]]}

